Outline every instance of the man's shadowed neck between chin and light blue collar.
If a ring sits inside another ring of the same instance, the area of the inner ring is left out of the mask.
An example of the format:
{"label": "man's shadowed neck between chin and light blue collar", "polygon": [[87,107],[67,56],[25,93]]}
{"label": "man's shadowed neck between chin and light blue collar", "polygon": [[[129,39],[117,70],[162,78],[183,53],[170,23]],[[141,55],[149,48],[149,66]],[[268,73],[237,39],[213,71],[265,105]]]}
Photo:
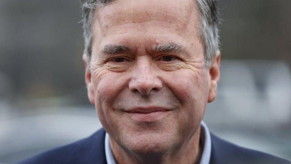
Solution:
{"label": "man's shadowed neck between chin and light blue collar", "polygon": [[136,164],[136,163],[199,163],[202,154],[202,144],[200,141],[200,127],[196,133],[180,146],[160,154],[135,154],[132,151],[121,148],[111,137],[109,137],[110,147],[116,163]]}

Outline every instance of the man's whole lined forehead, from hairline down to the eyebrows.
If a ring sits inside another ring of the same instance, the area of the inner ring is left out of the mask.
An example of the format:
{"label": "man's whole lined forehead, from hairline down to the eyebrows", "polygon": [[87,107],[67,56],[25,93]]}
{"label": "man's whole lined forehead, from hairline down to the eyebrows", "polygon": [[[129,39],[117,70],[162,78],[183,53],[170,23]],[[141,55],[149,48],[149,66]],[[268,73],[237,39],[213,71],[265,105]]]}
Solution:
{"label": "man's whole lined forehead, from hairline down to the eyebrows", "polygon": [[[95,11],[93,36],[98,42],[199,40],[199,12],[192,0],[115,0]],[[119,40],[121,39],[121,40]],[[122,40],[123,39],[123,40]]]}

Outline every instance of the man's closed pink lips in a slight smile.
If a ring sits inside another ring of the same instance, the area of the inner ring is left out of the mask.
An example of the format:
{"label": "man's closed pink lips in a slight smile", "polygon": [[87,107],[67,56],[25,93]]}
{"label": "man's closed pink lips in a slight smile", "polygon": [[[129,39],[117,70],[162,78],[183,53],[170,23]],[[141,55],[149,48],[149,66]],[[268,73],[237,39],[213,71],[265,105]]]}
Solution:
{"label": "man's closed pink lips in a slight smile", "polygon": [[170,113],[171,109],[163,107],[135,107],[125,110],[129,117],[139,122],[152,122],[157,121]]}

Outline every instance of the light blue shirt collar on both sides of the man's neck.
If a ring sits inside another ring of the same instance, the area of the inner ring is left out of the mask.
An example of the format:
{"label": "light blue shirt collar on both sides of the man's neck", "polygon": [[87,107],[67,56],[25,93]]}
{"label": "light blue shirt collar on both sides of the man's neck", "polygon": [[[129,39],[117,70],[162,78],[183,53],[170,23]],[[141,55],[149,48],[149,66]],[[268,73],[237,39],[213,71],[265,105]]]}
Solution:
{"label": "light blue shirt collar on both sides of the man's neck", "polygon": [[[207,125],[201,121],[200,141],[203,143],[200,164],[208,164],[211,155],[211,138]],[[109,143],[109,135],[105,134],[105,156],[107,164],[116,164]]]}

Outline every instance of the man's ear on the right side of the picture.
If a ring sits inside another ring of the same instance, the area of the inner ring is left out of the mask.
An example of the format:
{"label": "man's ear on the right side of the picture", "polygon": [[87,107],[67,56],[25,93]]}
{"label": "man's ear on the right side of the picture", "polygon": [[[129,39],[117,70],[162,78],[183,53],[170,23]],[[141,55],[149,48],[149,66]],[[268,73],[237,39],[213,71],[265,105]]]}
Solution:
{"label": "man's ear on the right side of the picture", "polygon": [[217,84],[220,78],[220,51],[216,51],[215,58],[212,60],[211,65],[209,66],[209,74],[211,78],[208,102],[212,102],[217,94]]}

